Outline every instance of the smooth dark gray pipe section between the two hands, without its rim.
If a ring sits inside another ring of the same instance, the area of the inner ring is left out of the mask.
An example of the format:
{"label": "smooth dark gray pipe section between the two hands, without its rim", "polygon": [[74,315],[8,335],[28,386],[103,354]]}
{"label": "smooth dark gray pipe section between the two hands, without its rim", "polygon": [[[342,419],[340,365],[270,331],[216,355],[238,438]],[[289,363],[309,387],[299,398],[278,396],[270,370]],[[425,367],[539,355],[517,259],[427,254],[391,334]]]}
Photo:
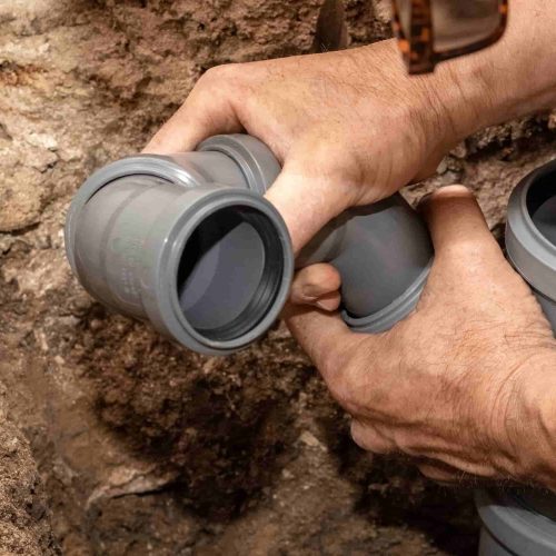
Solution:
{"label": "smooth dark gray pipe section between the two hands, without its rim", "polygon": [[329,262],[341,275],[347,315],[365,318],[396,301],[428,269],[433,247],[421,219],[400,195],[350,209],[304,249],[301,268]]}

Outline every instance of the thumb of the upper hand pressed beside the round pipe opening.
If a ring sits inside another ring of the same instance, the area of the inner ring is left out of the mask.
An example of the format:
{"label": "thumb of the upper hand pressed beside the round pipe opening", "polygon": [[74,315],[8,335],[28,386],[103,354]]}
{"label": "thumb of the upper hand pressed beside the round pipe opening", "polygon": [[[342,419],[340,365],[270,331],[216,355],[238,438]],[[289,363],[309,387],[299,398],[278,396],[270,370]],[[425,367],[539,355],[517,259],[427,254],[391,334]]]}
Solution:
{"label": "thumb of the upper hand pressed beside the round pipe opening", "polygon": [[[291,152],[266,198],[284,217],[297,254],[332,218],[356,205],[359,188],[344,170],[345,160],[336,160],[340,152],[318,155],[295,147]],[[319,163],[324,157],[326,162]]]}

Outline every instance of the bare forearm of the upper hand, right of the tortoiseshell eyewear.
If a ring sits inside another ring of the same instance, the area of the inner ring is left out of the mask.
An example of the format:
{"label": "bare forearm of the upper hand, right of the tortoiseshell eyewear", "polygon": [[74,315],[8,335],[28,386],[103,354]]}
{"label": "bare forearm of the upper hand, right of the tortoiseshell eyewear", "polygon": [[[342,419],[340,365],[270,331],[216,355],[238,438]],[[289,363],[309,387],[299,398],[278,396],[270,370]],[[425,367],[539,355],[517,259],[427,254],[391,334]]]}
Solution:
{"label": "bare forearm of the upper hand, right of the tortoiseshell eyewear", "polygon": [[464,137],[556,106],[556,11],[553,0],[512,0],[508,27],[490,48],[439,66],[460,91],[474,119],[461,123]]}

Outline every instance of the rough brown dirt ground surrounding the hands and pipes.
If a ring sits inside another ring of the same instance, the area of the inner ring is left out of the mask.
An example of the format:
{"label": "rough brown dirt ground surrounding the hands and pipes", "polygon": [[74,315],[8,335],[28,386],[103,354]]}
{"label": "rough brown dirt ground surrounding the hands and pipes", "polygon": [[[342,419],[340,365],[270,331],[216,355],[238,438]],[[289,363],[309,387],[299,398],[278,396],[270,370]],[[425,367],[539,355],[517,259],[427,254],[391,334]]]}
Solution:
{"label": "rough brown dirt ground surrounding the hands and pipes", "polygon": [[[328,48],[321,3],[0,0],[1,554],[476,550],[471,492],[357,449],[281,326],[201,357],[93,302],[64,260],[87,175],[140,149],[209,67]],[[388,33],[386,2],[346,3],[349,44]],[[554,127],[470,138],[407,193],[464,182],[500,237]]]}

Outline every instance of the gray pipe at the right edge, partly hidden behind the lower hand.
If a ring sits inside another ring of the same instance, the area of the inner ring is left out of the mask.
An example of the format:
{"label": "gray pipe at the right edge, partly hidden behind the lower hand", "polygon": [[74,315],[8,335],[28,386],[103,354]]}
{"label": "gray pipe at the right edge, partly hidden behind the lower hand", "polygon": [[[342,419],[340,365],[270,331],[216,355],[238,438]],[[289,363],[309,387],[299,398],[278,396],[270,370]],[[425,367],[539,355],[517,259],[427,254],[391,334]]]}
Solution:
{"label": "gray pipe at the right edge, partly hidden behind the lower hand", "polygon": [[[506,249],[556,331],[556,161],[527,176],[509,199]],[[481,490],[479,556],[556,555],[556,495]]]}

